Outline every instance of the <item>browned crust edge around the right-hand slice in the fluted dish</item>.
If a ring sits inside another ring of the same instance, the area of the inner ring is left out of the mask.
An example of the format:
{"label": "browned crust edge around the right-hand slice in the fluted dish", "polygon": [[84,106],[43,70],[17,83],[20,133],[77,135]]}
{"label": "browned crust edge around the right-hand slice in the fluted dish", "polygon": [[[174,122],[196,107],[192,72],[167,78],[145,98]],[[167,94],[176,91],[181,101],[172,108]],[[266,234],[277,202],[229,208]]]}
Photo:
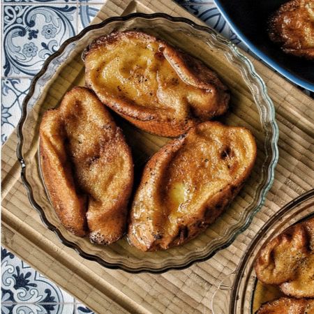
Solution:
{"label": "browned crust edge around the right-hand slice in the fluted dish", "polygon": [[[188,133],[195,132],[197,128],[200,128],[202,126],[224,126],[224,125],[216,121],[207,121],[202,124],[199,124],[195,128],[191,128],[188,131]],[[246,128],[241,127],[235,128],[247,131]],[[177,152],[182,147],[184,147],[186,142],[186,136],[187,134],[181,135],[181,137],[172,140],[172,142],[166,144],[156,154],[154,154],[154,156],[151,157],[151,159],[144,168],[140,186],[137,188],[137,193],[135,194],[135,198],[133,200],[133,206],[139,194],[139,191],[144,188],[144,186],[149,182],[149,179],[151,179],[151,177],[154,176],[156,172],[159,174],[167,171],[168,163],[171,162],[172,158],[176,156]],[[214,223],[216,218],[220,216],[220,214],[225,210],[225,208],[230,204],[230,202],[232,202],[237,193],[239,193],[239,190],[241,190],[249,174],[251,174],[257,154],[256,144],[253,135],[251,135],[251,143],[255,147],[255,151],[252,156],[252,162],[249,165],[249,167],[246,168],[246,171],[237,179],[237,181],[232,182],[232,184],[220,190],[219,193],[217,193],[214,197],[211,198],[210,202],[206,202],[204,204],[204,208],[200,209],[198,216],[195,216],[195,214],[193,214],[193,216],[189,217],[188,219],[185,219],[185,224],[184,226],[179,228],[177,237],[174,237],[172,241],[169,244],[167,244],[167,246],[160,246],[160,236],[158,234],[147,235],[147,243],[150,243],[149,245],[145,245],[142,243],[142,241],[139,241],[137,235],[133,232],[134,223],[132,218],[134,214],[133,209],[131,209],[130,212],[131,221],[128,230],[129,243],[133,246],[136,246],[142,251],[157,251],[160,249],[167,249],[174,246],[180,246],[181,244],[184,244],[187,241],[190,241],[191,239],[197,237],[198,234],[207,229],[207,227],[211,225],[211,223]],[[160,183],[161,177],[162,176],[158,176],[158,178],[156,179],[156,185]]]}

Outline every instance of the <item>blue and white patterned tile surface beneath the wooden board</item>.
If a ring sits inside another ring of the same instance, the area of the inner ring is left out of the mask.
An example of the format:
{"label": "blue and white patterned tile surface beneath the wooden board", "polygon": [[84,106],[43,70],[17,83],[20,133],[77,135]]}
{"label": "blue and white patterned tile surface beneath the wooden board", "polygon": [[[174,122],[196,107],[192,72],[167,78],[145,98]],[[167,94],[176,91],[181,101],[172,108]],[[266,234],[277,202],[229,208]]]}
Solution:
{"label": "blue and white patterned tile surface beneath the wooden board", "polygon": [[[247,48],[226,24],[213,1],[177,0],[233,43]],[[20,119],[22,101],[47,57],[79,33],[104,0],[1,0],[1,142]],[[93,313],[57,285],[1,248],[1,313]]]}

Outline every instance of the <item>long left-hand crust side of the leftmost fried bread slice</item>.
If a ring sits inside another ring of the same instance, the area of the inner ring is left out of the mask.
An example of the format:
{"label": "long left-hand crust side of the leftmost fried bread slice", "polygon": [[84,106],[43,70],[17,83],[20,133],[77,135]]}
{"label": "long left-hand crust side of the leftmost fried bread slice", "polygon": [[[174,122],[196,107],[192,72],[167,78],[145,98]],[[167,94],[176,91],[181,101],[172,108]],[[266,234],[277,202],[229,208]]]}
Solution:
{"label": "long left-hand crust side of the leftmost fried bread slice", "polygon": [[87,200],[84,195],[76,192],[68,154],[64,145],[60,144],[63,142],[63,135],[46,135],[51,121],[58,120],[56,111],[45,112],[40,124],[41,170],[50,200],[61,223],[77,237],[84,237],[88,232],[85,218]]}

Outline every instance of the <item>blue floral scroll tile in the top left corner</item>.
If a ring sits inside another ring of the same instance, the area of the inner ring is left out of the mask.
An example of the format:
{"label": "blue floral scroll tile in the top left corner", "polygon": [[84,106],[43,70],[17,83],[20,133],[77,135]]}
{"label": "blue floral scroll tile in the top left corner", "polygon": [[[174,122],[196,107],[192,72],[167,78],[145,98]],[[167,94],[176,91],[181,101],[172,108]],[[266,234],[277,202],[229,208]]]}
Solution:
{"label": "blue floral scroll tile in the top left corner", "polygon": [[76,6],[3,6],[2,75],[32,77],[76,33]]}

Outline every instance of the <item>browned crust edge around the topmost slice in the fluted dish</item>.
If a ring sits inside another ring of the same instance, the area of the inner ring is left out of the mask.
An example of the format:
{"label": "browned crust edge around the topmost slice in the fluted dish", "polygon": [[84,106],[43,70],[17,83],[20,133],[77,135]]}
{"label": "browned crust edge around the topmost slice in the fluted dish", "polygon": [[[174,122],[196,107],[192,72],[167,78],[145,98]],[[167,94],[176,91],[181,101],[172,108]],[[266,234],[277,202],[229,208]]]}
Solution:
{"label": "browned crust edge around the topmost slice in the fluted dish", "polygon": [[[151,36],[141,31],[124,31],[114,32],[105,36],[96,38],[82,53],[82,59],[86,64],[87,57],[91,52],[97,52],[101,47],[106,45],[112,45],[119,40],[142,40],[147,45],[151,42],[159,43],[160,53],[163,54],[165,59],[171,64],[175,72],[182,81],[186,84],[202,89],[204,91],[210,91],[213,97],[216,99],[217,105],[215,110],[212,110],[211,114],[208,112],[205,114],[202,110],[193,110],[188,114],[183,121],[177,121],[174,118],[164,119],[160,117],[158,111],[142,108],[131,103],[126,98],[114,98],[112,96],[104,96],[97,93],[98,98],[124,117],[124,119],[130,121],[138,128],[165,137],[177,137],[186,131],[199,124],[202,121],[207,121],[213,117],[220,116],[227,112],[228,104],[230,100],[230,91],[220,81],[214,70],[210,70],[202,61],[195,57],[181,52],[179,49],[172,47],[164,40],[160,40],[155,36]],[[87,67],[87,71],[88,71]],[[89,82],[87,75],[87,87],[93,89],[93,84]],[[209,110],[210,111],[210,110]],[[206,117],[205,117],[206,116]]]}

